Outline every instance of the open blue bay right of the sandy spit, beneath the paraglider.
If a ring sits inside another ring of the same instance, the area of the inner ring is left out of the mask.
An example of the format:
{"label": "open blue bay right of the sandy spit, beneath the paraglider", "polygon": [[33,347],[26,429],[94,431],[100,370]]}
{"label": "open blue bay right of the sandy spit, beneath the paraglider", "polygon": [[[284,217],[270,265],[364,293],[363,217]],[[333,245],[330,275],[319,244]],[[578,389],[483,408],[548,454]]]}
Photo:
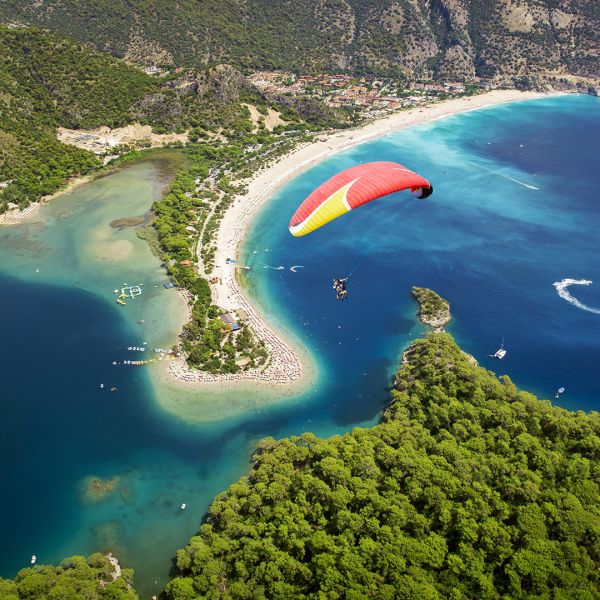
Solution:
{"label": "open blue bay right of the sandy spit, beneath the paraglider", "polygon": [[[335,156],[282,189],[246,246],[249,264],[260,269],[249,284],[283,306],[279,319],[299,325],[322,357],[331,382],[319,403],[332,419],[366,419],[386,402],[398,353],[422,331],[414,323],[412,285],[450,301],[449,330],[482,366],[544,398],[564,386],[559,403],[565,407],[600,408],[600,315],[569,304],[552,285],[593,280],[570,291],[600,307],[599,153],[600,100],[561,97],[396,132]],[[422,173],[434,194],[424,202],[394,194],[308,236],[287,233],[291,214],[312,189],[371,160]],[[261,269],[264,264],[286,270]],[[287,270],[294,264],[305,268]],[[350,299],[337,302],[331,279],[355,265]],[[502,338],[508,353],[498,362],[487,355]],[[379,386],[372,385],[375,374]]]}

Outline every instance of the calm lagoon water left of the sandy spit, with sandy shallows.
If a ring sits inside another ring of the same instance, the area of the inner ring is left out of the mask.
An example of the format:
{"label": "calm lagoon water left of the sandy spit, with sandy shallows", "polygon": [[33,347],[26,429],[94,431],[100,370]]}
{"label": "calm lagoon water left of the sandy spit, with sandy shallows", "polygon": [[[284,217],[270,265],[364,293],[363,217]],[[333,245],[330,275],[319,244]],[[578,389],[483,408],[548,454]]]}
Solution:
{"label": "calm lagoon water left of the sandy spit, with sandy shallows", "polygon": [[[0,230],[4,576],[32,554],[43,564],[112,548],[144,595],[159,592],[210,501],[247,472],[256,440],[294,416],[282,405],[189,423],[163,410],[152,366],[112,364],[150,358],[127,348],[167,347],[182,322],[159,260],[133,228],[109,225],[144,214],[172,172],[169,161],[134,164]],[[143,293],[121,307],[113,292],[124,283]],[[90,501],[86,484],[114,478]]]}

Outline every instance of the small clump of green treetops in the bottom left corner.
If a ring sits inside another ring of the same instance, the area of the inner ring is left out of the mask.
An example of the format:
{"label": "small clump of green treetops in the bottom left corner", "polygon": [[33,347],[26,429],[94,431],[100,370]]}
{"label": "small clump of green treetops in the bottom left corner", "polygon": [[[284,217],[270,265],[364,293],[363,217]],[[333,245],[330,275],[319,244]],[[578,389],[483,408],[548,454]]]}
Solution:
{"label": "small clump of green treetops in the bottom left corner", "polygon": [[0,579],[0,600],[137,600],[133,571],[115,571],[107,556],[65,558],[58,567],[21,569],[14,580]]}

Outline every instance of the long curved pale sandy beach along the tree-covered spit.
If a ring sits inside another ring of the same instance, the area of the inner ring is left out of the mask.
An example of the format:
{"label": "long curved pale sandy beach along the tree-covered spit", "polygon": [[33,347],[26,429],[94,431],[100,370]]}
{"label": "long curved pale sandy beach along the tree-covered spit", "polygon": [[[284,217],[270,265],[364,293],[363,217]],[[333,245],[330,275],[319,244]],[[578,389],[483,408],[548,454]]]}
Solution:
{"label": "long curved pale sandy beach along the tree-covered spit", "polygon": [[[226,310],[241,308],[246,312],[247,322],[268,346],[271,354],[270,363],[262,370],[256,369],[234,375],[210,375],[190,370],[184,360],[177,359],[171,361],[169,365],[170,376],[175,381],[188,385],[196,384],[197,391],[201,391],[202,388],[211,392],[222,391],[223,385],[233,391],[236,388],[243,389],[240,386],[244,383],[254,383],[263,389],[276,392],[281,397],[282,388],[285,387],[293,386],[295,390],[306,389],[310,385],[309,381],[314,382],[316,376],[315,366],[308,352],[298,343],[291,341],[288,335],[277,331],[268,317],[261,314],[255,302],[242,289],[235,267],[226,263],[226,259],[238,257],[245,233],[262,205],[291,177],[357,144],[399,129],[469,110],[540,98],[545,95],[536,92],[495,90],[480,96],[457,98],[394,113],[357,129],[320,134],[317,141],[297,148],[276,164],[257,173],[248,183],[247,193],[236,199],[221,221],[216,239],[214,271],[219,282],[211,284],[211,289],[213,302],[218,306]],[[248,385],[245,387],[247,389]]]}

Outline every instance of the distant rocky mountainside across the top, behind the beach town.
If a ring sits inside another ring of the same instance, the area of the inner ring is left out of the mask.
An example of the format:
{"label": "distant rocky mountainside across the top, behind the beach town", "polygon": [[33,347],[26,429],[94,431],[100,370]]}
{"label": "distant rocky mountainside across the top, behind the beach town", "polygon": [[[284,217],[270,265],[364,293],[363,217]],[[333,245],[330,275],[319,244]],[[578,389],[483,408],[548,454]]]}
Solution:
{"label": "distant rocky mountainside across the top, behind the beach town", "polygon": [[531,84],[600,76],[597,0],[5,0],[5,22],[132,61]]}

